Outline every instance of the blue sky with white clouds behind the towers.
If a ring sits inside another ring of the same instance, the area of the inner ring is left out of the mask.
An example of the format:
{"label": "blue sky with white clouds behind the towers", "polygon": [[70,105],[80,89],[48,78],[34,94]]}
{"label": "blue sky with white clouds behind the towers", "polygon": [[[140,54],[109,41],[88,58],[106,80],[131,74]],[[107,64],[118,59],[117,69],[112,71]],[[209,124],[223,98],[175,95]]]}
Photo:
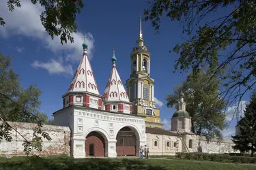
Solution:
{"label": "blue sky with white clouds behind the towers", "polygon": [[[70,0],[71,1],[71,0]],[[12,67],[20,76],[20,84],[27,88],[36,84],[42,95],[40,111],[50,118],[62,108],[61,95],[65,94],[74,71],[83,56],[83,34],[87,31],[88,56],[100,93],[103,94],[111,73],[112,46],[115,46],[117,71],[122,82],[130,76],[130,52],[139,37],[139,16],[147,7],[141,1],[84,1],[85,7],[76,19],[78,32],[73,35],[73,44],[60,43],[59,37],[51,39],[41,24],[43,8],[22,0],[22,7],[8,11],[7,0],[0,1],[0,14],[5,26],[0,27],[0,51],[12,56]],[[175,109],[167,107],[165,97],[173,87],[186,80],[188,73],[173,73],[178,55],[169,53],[175,44],[184,41],[182,25],[162,18],[160,33],[156,34],[150,22],[142,23],[145,46],[151,53],[151,77],[155,80],[155,101],[165,129],[170,129],[171,116]],[[185,99],[186,100],[186,99]],[[242,108],[248,101],[244,97]],[[240,107],[240,108],[241,108]],[[227,108],[227,122],[233,118],[235,106]],[[223,136],[234,135],[236,119],[223,131]]]}

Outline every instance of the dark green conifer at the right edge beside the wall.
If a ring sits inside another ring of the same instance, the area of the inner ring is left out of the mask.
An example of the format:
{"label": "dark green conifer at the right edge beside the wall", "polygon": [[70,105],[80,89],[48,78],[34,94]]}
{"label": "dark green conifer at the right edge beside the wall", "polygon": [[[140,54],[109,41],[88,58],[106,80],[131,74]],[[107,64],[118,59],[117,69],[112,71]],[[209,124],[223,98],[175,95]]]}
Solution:
{"label": "dark green conifer at the right edge beside the wall", "polygon": [[251,101],[246,105],[244,117],[238,121],[240,133],[232,136],[232,141],[235,143],[233,148],[240,152],[251,151],[253,157],[256,151],[256,91],[251,95]]}

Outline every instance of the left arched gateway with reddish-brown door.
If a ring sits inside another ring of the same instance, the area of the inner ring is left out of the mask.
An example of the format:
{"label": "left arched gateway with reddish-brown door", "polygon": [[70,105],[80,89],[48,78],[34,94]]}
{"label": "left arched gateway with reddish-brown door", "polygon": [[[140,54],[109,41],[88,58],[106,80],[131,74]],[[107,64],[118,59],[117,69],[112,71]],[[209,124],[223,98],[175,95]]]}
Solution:
{"label": "left arched gateway with reddish-brown door", "polygon": [[86,156],[104,156],[105,155],[105,140],[104,137],[93,131],[89,133],[85,140]]}

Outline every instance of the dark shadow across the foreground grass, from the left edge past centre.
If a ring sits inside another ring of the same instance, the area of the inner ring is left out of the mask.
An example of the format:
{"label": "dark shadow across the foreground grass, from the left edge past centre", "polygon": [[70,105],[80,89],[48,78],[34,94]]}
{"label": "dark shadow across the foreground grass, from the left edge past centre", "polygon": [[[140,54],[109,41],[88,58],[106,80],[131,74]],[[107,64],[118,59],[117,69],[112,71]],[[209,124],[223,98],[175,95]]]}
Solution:
{"label": "dark shadow across the foreground grass, from the left edge past centre", "polygon": [[147,161],[132,159],[106,159],[106,158],[36,158],[29,162],[8,161],[0,163],[2,170],[167,170],[159,165],[150,165]]}

